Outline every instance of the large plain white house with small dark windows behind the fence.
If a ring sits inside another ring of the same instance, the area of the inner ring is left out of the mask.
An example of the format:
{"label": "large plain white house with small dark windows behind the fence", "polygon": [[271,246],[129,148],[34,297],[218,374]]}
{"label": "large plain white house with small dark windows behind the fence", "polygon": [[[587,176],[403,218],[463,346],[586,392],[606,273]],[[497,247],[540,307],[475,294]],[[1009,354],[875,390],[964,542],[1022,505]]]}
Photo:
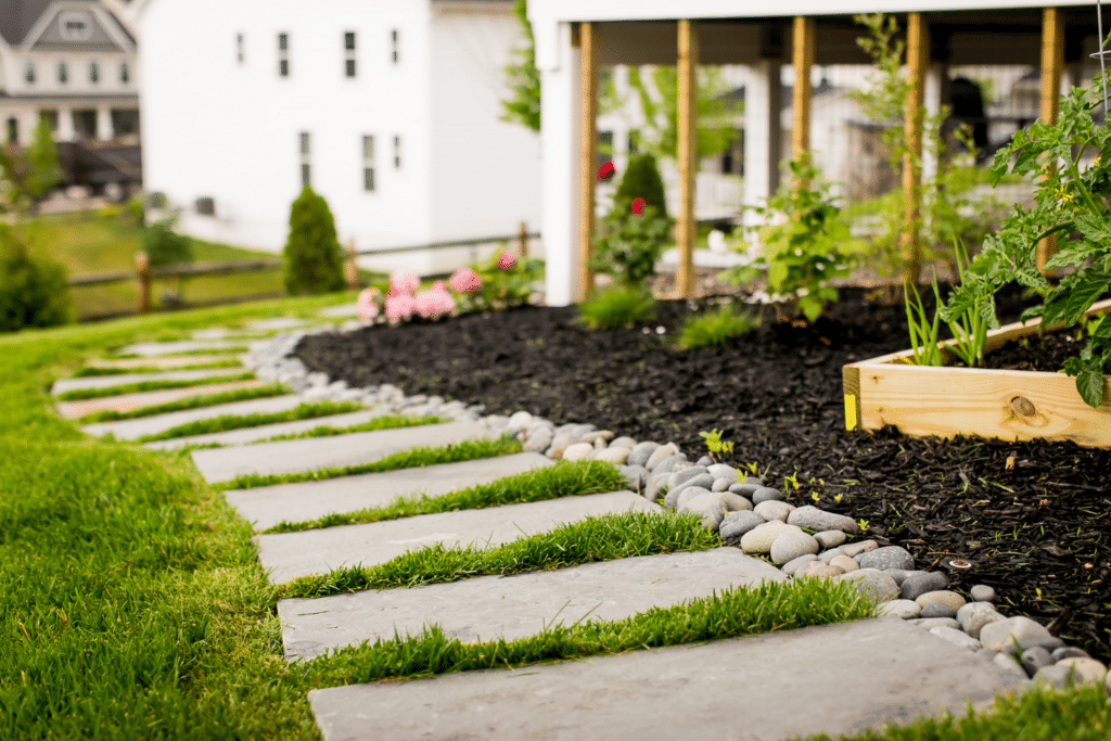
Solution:
{"label": "large plain white house with small dark windows behind the fence", "polygon": [[[303,184],[359,250],[539,227],[502,122],[510,0],[136,0],[144,186],[197,237],[279,251]],[[361,262],[437,272],[469,250]]]}

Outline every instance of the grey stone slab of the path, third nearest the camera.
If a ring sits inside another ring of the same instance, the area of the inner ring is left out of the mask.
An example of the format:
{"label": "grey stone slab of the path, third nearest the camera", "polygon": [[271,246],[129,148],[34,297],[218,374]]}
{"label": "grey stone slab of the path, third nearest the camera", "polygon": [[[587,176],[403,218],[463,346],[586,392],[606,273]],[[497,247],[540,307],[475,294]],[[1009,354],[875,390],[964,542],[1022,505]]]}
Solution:
{"label": "grey stone slab of the path, third nearest the camera", "polygon": [[419,514],[402,520],[256,535],[259,559],[276,584],[340,567],[371,567],[434,543],[494,547],[547,532],[590,515],[629,510],[662,511],[631,491],[565,497],[483,510]]}

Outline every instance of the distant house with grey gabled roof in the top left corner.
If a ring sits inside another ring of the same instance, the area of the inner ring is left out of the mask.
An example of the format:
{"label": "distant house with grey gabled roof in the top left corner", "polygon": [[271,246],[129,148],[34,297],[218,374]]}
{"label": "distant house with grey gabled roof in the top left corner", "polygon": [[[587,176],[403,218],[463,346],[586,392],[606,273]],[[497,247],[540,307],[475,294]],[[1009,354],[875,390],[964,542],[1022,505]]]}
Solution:
{"label": "distant house with grey gabled roof in the top left corner", "polygon": [[0,138],[31,140],[40,119],[59,141],[139,133],[136,40],[100,0],[2,0]]}

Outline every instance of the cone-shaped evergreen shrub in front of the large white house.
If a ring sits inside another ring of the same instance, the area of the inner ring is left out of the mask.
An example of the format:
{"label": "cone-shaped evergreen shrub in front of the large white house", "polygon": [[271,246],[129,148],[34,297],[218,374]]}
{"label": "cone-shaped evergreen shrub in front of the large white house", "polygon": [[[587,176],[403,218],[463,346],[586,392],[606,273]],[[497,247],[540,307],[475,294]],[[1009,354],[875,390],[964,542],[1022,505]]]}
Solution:
{"label": "cone-shaped evergreen shrub in front of the large white house", "polygon": [[308,186],[290,208],[284,257],[289,293],[327,293],[343,288],[343,253],[336,238],[336,221],[328,202]]}

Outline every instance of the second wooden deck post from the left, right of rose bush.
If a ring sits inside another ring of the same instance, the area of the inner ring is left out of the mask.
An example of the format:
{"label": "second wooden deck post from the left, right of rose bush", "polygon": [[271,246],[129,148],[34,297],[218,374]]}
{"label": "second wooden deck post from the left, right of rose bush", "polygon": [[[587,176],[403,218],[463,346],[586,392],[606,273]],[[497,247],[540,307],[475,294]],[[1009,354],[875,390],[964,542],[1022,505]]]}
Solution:
{"label": "second wooden deck post from the left, right of rose bush", "polygon": [[679,21],[679,86],[675,159],[679,166],[679,213],[675,220],[675,292],[694,293],[694,176],[698,172],[698,34],[688,19]]}

